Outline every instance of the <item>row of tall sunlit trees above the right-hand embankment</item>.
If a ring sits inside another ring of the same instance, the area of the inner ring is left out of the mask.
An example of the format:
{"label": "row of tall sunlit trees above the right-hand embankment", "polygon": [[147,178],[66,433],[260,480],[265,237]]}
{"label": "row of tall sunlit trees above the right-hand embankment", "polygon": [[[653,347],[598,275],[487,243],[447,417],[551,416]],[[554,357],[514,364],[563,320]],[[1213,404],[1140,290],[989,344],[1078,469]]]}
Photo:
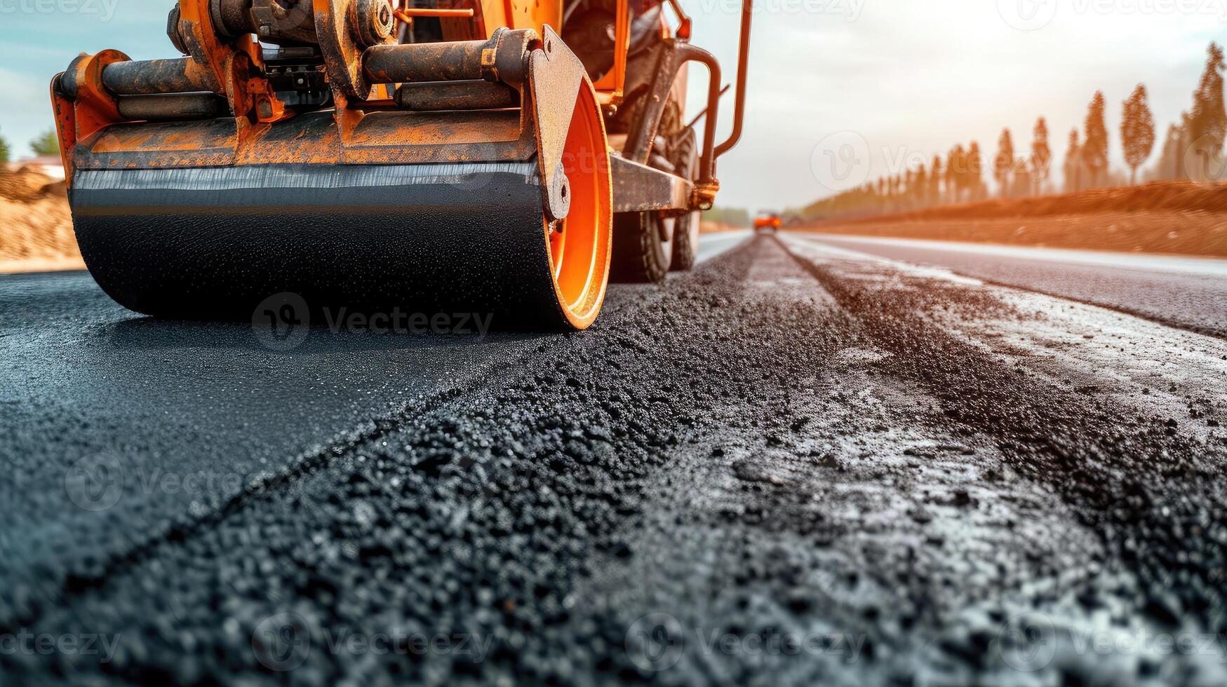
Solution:
{"label": "row of tall sunlit trees above the right-hand embankment", "polygon": [[[1227,135],[1227,108],[1223,104],[1223,50],[1211,43],[1206,65],[1193,93],[1193,107],[1180,121],[1168,128],[1162,151],[1145,180],[1221,180],[1225,168],[1223,139]],[[1087,107],[1082,130],[1069,135],[1064,173],[1064,191],[1117,186],[1137,183],[1139,169],[1151,158],[1156,144],[1155,118],[1146,86],[1139,85],[1124,101],[1120,121],[1120,146],[1128,178],[1108,167],[1107,99],[1096,92]],[[956,145],[945,158],[937,155],[925,166],[910,164],[898,174],[881,177],[855,189],[817,201],[802,211],[806,218],[877,215],[901,212],[998,198],[1026,198],[1053,193],[1049,185],[1053,151],[1048,123],[1039,118],[1032,129],[1029,152],[1015,147],[1009,129],[1001,131],[998,150],[985,161],[979,144]],[[985,173],[995,189],[990,191]]]}

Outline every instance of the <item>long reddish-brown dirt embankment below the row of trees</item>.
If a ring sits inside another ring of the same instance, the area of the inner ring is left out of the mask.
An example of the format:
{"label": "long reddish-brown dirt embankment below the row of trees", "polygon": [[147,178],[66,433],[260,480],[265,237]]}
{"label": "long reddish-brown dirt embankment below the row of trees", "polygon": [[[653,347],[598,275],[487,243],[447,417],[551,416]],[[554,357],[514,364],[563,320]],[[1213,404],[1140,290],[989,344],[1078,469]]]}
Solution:
{"label": "long reddish-brown dirt embankment below the row of trees", "polygon": [[1227,258],[1227,184],[1157,182],[807,225],[810,231]]}

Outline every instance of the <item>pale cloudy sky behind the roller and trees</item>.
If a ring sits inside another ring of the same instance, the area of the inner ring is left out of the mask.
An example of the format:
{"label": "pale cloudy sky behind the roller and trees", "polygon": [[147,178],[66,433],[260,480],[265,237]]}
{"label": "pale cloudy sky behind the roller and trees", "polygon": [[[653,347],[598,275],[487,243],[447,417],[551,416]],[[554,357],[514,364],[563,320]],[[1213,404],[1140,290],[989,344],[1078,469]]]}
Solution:
{"label": "pale cloudy sky behind the roller and trees", "polygon": [[[17,157],[52,125],[48,82],[77,53],[174,56],[164,34],[173,4],[0,0],[0,135]],[[740,0],[681,4],[691,42],[715,53],[731,82]],[[1211,40],[1227,40],[1227,0],[755,0],[745,132],[719,159],[718,205],[804,206],[973,140],[988,159],[1002,128],[1022,152],[1038,117],[1059,173],[1069,131],[1099,90],[1112,164],[1123,168],[1124,99],[1146,85],[1161,141],[1191,104]],[[706,102],[702,69],[691,112]],[[726,132],[731,94],[721,107]]]}

